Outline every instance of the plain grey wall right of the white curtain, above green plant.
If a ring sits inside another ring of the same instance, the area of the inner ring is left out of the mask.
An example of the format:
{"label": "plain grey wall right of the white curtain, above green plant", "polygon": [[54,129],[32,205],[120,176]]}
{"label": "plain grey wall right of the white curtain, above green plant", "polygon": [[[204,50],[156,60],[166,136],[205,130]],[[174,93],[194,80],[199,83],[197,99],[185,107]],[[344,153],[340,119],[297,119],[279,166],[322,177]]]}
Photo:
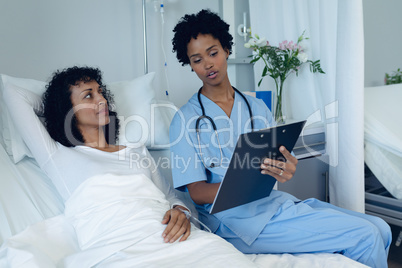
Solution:
{"label": "plain grey wall right of the white curtain, above green plant", "polygon": [[365,83],[384,85],[385,73],[402,68],[402,1],[363,0]]}

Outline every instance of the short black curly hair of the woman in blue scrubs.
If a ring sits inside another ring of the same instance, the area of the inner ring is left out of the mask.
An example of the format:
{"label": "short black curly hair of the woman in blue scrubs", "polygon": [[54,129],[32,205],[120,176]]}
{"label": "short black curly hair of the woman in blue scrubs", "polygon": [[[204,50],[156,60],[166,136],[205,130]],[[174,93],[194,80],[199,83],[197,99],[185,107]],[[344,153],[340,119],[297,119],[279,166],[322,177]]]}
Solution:
{"label": "short black curly hair of the woman in blue scrubs", "polygon": [[197,14],[185,15],[173,29],[173,52],[184,66],[190,64],[187,56],[187,45],[191,38],[197,39],[198,34],[210,34],[218,39],[222,47],[232,53],[233,37],[229,33],[229,24],[216,13],[203,9]]}

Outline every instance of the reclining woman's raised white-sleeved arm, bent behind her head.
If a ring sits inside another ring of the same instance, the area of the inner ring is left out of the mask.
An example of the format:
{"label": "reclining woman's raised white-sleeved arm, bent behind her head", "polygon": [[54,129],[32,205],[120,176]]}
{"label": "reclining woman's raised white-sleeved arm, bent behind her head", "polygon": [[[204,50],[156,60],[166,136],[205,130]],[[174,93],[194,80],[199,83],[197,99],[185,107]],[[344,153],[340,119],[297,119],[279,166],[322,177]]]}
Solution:
{"label": "reclining woman's raised white-sleeved arm, bent behind her head", "polygon": [[50,137],[35,111],[42,108],[42,99],[17,86],[4,89],[4,100],[12,121],[40,167],[57,150],[56,142]]}

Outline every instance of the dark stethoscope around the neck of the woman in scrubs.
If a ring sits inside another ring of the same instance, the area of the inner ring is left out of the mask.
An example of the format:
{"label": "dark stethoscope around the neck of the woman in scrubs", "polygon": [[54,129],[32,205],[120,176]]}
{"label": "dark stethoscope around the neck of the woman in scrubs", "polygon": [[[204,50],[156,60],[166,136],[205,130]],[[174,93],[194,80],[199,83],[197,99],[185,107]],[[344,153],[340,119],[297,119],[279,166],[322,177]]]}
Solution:
{"label": "dark stethoscope around the neck of the woman in scrubs", "polygon": [[[232,87],[232,88],[233,88],[234,91],[236,91],[236,92],[244,99],[244,101],[246,102],[247,108],[248,108],[248,113],[250,114],[251,131],[254,131],[253,113],[251,112],[250,103],[247,101],[247,99],[246,99],[246,97],[243,95],[243,93],[241,93],[241,92],[240,92],[239,90],[237,90],[235,87]],[[222,152],[221,144],[220,144],[220,142],[219,142],[218,130],[217,130],[217,128],[216,128],[215,122],[214,122],[214,120],[213,120],[211,117],[209,117],[208,115],[205,114],[204,105],[202,104],[202,101],[201,101],[201,89],[202,89],[202,87],[198,90],[198,95],[197,95],[197,97],[198,97],[198,102],[200,103],[200,106],[201,106],[202,115],[201,115],[200,117],[198,117],[197,121],[195,121],[195,131],[197,132],[197,139],[198,139],[198,151],[199,151],[199,155],[200,155],[201,161],[202,161],[202,163],[204,164],[204,167],[205,167],[205,168],[208,168],[207,165],[206,165],[205,162],[204,162],[204,158],[202,157],[201,140],[200,140],[200,121],[201,121],[202,119],[207,119],[207,120],[211,123],[212,128],[213,128],[213,130],[214,130],[214,132],[215,132],[216,140],[218,141],[219,151],[220,151],[220,154],[221,154],[221,160],[220,160],[219,164],[211,163],[211,165],[209,165],[210,168],[214,168],[214,167],[219,167],[219,166],[222,165],[223,152]]]}

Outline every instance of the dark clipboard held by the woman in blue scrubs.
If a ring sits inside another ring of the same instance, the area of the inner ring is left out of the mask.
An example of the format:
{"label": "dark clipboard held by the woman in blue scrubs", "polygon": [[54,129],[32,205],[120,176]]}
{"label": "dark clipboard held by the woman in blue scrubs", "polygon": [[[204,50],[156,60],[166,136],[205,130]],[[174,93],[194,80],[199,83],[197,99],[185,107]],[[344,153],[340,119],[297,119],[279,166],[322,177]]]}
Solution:
{"label": "dark clipboard held by the woman in blue scrubs", "polygon": [[261,174],[265,158],[285,161],[280,146],[292,151],[306,120],[244,133],[239,136],[210,214],[244,205],[271,194],[276,179]]}

